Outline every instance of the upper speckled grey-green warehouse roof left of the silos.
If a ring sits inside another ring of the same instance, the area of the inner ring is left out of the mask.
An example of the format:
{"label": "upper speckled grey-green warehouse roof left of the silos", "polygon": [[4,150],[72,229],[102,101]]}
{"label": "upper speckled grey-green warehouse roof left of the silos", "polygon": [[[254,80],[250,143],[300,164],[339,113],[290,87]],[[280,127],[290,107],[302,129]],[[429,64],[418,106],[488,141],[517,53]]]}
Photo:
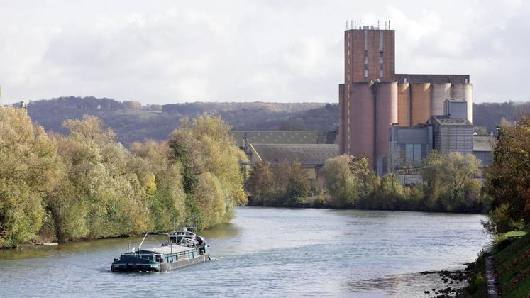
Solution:
{"label": "upper speckled grey-green warehouse roof left of the silos", "polygon": [[232,131],[238,147],[247,133],[251,144],[333,144],[336,131]]}

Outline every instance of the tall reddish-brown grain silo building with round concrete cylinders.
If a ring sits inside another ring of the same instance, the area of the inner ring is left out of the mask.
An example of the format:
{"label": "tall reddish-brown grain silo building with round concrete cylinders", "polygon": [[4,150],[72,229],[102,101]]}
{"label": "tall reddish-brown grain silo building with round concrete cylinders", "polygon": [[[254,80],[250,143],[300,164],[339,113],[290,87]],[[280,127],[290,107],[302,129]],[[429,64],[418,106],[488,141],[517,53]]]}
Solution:
{"label": "tall reddish-brown grain silo building with round concrete cylinders", "polygon": [[385,28],[355,26],[344,32],[339,153],[366,155],[379,174],[386,170],[392,124],[426,123],[444,114],[449,98],[465,102],[466,119],[471,123],[473,118],[469,75],[396,74],[394,42],[395,33],[386,22]]}

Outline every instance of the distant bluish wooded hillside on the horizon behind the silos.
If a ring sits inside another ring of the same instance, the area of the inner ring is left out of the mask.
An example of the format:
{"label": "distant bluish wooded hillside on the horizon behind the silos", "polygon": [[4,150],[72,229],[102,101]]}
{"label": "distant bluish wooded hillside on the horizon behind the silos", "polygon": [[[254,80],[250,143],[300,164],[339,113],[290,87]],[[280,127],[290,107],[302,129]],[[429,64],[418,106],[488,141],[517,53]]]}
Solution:
{"label": "distant bluish wooded hillside on the horizon behind the silos", "polygon": [[[473,104],[473,123],[495,131],[502,118],[513,121],[530,102]],[[180,120],[199,115],[223,118],[236,130],[331,130],[338,123],[338,105],[323,103],[280,104],[265,102],[194,102],[148,105],[136,101],[116,101],[94,97],[61,97],[33,101],[28,114],[46,131],[67,133],[62,121],[81,118],[84,114],[101,118],[123,145],[145,139],[165,140]]]}

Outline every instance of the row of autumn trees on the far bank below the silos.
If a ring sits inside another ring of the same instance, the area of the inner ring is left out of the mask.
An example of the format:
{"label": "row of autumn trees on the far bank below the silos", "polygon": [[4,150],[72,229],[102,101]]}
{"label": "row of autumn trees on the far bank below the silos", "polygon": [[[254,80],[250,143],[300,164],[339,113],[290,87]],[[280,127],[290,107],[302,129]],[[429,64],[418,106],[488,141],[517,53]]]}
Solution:
{"label": "row of autumn trees on the far bank below the silos", "polygon": [[341,155],[326,160],[321,182],[307,180],[296,161],[258,162],[246,187],[253,205],[482,213],[479,174],[475,155],[433,151],[421,166],[423,182],[404,186],[395,174],[377,177],[367,158]]}

